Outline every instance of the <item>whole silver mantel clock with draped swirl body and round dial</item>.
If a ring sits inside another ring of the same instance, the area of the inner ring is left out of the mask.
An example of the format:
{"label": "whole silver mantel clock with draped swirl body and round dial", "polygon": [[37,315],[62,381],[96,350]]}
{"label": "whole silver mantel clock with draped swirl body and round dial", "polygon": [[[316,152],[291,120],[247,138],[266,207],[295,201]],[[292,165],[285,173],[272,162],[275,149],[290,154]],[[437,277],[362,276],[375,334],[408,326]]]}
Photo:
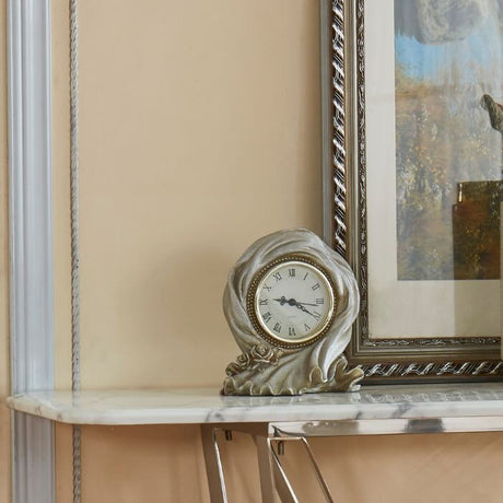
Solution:
{"label": "whole silver mantel clock with draped swirl body and round dial", "polygon": [[359,312],[348,262],[305,229],[278,231],[249,246],[223,295],[242,350],[225,369],[224,395],[356,390],[361,369],[343,351]]}

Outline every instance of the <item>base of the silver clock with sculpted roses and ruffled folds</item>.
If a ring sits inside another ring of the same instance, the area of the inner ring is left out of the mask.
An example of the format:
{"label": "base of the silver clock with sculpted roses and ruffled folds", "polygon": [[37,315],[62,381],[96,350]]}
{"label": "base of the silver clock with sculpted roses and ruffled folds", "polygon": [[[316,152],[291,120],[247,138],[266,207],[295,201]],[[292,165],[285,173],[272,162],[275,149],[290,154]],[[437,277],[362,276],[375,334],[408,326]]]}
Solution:
{"label": "base of the silver clock with sculpted roses and ruffled folds", "polygon": [[356,391],[361,369],[347,370],[346,356],[336,358],[327,372],[299,354],[285,354],[266,344],[254,346],[226,369],[222,395],[303,395],[305,393]]}

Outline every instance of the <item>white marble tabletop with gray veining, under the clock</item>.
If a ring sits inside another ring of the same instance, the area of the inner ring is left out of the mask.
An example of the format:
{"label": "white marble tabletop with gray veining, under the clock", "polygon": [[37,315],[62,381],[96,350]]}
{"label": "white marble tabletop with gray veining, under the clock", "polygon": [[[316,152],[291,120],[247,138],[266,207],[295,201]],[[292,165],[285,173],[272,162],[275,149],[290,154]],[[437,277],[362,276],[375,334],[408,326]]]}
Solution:
{"label": "white marble tabletop with gray veining, under the clock", "polygon": [[11,409],[71,424],[189,424],[502,417],[503,383],[364,386],[293,397],[221,396],[217,388],[34,391]]}

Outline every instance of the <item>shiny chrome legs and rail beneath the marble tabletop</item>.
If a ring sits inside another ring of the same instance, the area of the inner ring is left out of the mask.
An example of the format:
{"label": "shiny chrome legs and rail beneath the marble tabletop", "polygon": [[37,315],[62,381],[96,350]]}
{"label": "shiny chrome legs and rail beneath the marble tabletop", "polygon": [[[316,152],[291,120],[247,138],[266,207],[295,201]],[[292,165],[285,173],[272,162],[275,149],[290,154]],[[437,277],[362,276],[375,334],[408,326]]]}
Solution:
{"label": "shiny chrome legs and rail beneath the marble tabletop", "polygon": [[283,503],[299,502],[292,481],[281,464],[284,445],[290,442],[300,442],[303,445],[308,466],[314,470],[323,496],[327,502],[334,502],[309,447],[308,437],[503,431],[503,416],[202,424],[201,437],[212,503],[227,502],[218,436],[219,432],[223,432],[225,438],[231,440],[233,431],[247,433],[255,441],[264,503],[273,503],[274,492]]}

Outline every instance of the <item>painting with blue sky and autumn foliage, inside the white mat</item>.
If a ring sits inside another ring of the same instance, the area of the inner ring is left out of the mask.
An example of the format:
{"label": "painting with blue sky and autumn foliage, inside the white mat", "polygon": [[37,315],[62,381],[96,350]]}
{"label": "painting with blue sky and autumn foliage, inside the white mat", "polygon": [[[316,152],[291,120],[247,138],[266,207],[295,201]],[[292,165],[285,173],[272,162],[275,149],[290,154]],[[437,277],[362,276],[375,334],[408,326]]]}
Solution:
{"label": "painting with blue sky and autumn foliage, inside the white mat", "polygon": [[399,280],[500,276],[500,3],[395,2]]}

